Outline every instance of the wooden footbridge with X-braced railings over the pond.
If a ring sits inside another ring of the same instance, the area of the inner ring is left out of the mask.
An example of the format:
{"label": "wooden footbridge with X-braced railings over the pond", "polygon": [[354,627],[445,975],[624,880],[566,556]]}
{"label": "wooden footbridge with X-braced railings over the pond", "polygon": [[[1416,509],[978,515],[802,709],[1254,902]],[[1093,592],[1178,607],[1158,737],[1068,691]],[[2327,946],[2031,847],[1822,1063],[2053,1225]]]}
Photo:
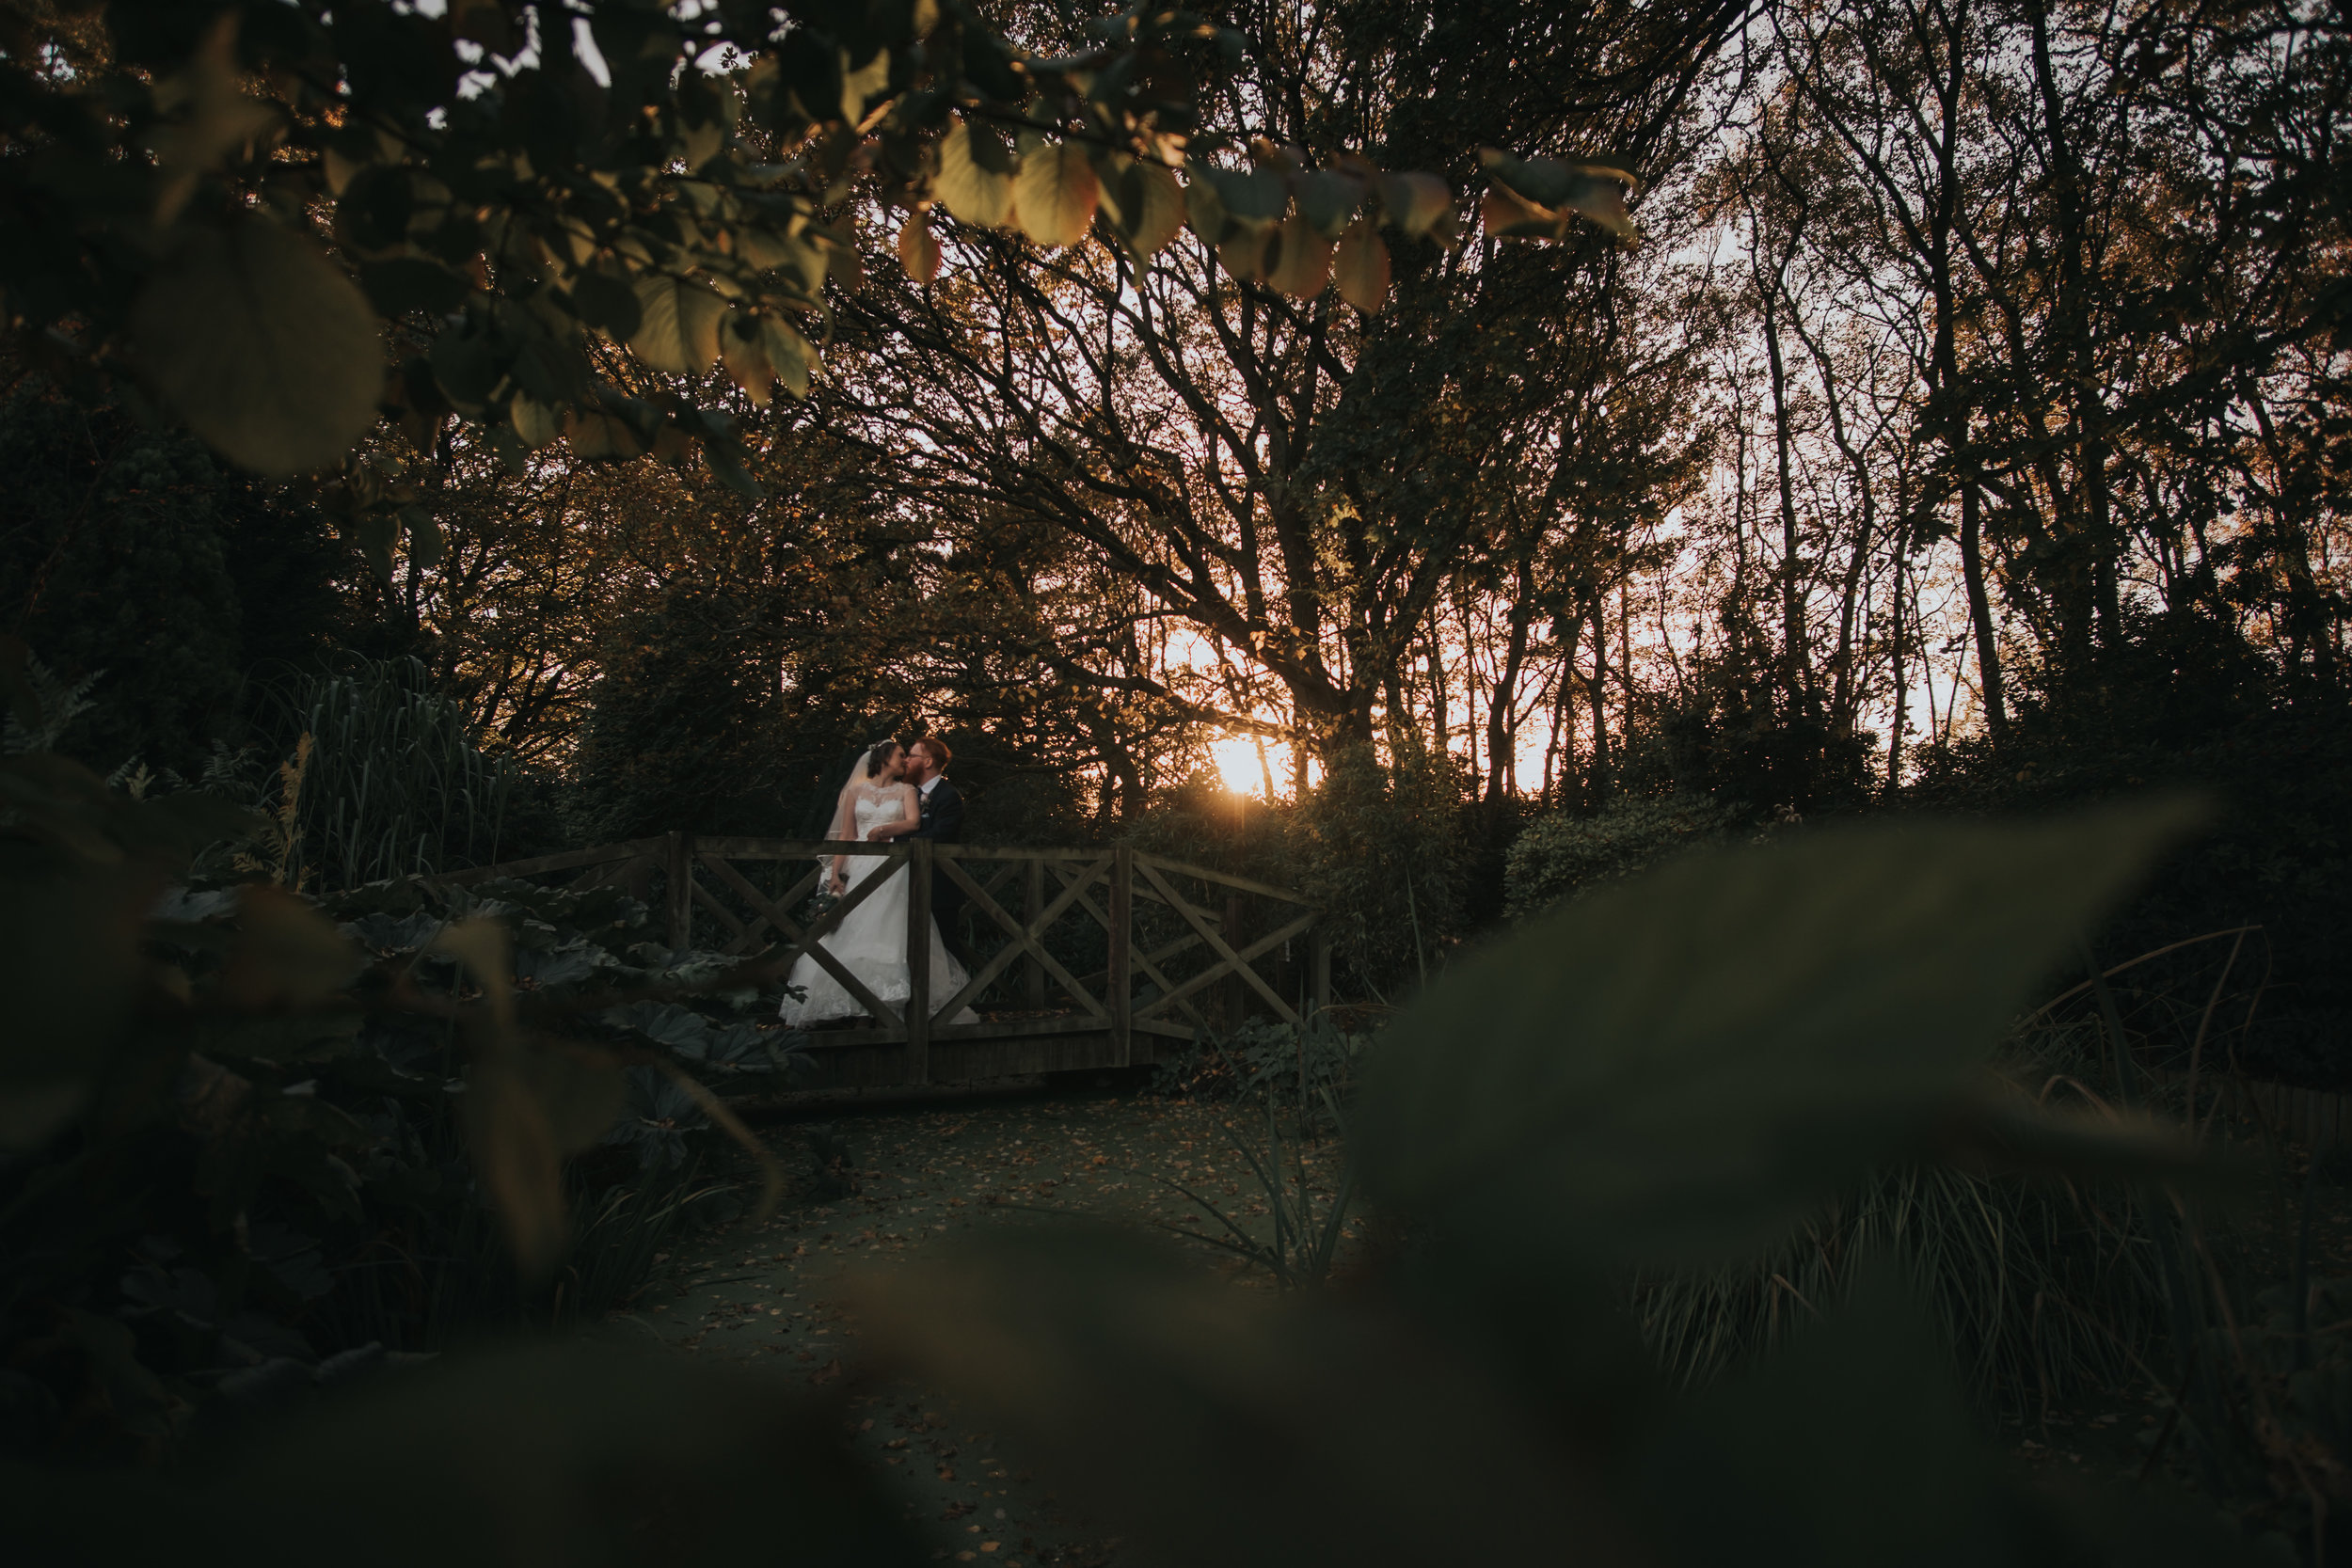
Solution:
{"label": "wooden footbridge with X-braced railings over the pond", "polygon": [[[835,853],[882,870],[818,910]],[[898,867],[908,884],[910,994],[875,997],[821,938]],[[948,938],[976,964],[943,994],[929,973],[934,872],[962,891]],[[957,1084],[1028,1072],[1155,1063],[1197,1030],[1263,1016],[1303,1025],[1331,1001],[1322,912],[1296,893],[1138,849],[844,844],[666,832],[454,872],[468,884],[524,877],[572,889],[626,886],[659,910],[673,950],[760,959],[783,976],[814,954],[866,1009],[807,1034],[811,1088]],[[960,926],[960,929],[957,929]],[[946,1023],[971,1009],[978,1023]]]}

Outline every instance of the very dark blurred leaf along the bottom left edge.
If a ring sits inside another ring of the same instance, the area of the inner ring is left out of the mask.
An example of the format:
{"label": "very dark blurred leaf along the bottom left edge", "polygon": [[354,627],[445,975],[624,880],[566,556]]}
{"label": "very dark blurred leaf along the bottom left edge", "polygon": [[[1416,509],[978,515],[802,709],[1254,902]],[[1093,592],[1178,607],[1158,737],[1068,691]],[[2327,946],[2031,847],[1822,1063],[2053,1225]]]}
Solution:
{"label": "very dark blurred leaf along the bottom left edge", "polygon": [[390,1373],[179,1483],[0,1469],[49,1561],[922,1563],[840,1410],[743,1368],[536,1349]]}

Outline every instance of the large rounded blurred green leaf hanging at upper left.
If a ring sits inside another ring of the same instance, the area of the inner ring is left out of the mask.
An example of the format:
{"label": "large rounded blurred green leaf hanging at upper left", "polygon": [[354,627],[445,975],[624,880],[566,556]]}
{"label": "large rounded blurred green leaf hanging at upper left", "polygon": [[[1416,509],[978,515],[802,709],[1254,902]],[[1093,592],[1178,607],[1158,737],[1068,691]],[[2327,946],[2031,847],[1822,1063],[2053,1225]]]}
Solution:
{"label": "large rounded blurred green leaf hanging at upper left", "polygon": [[132,353],[191,430],[254,473],[325,468],[376,423],[376,313],[315,244],[261,216],[198,230],[148,277]]}

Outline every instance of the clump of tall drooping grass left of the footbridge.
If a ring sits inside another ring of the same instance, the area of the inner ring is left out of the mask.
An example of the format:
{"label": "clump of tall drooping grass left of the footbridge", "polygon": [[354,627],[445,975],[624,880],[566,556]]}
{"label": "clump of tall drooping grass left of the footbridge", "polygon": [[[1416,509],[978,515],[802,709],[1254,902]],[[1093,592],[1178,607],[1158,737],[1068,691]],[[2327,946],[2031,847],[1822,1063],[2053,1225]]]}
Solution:
{"label": "clump of tall drooping grass left of the footbridge", "polygon": [[303,675],[280,708],[289,733],[310,736],[294,811],[308,886],[496,860],[513,776],[480,750],[466,710],[428,691],[421,663]]}

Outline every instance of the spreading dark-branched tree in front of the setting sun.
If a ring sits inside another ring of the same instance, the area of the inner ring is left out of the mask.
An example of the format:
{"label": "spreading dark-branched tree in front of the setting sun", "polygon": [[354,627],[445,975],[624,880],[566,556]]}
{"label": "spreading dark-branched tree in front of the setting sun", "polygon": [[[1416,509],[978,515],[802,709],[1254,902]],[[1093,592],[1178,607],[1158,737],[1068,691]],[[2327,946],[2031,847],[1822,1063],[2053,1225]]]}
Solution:
{"label": "spreading dark-branched tree in front of the setting sun", "polygon": [[[1534,94],[1477,113],[1463,87],[1536,42],[1505,26],[1444,61],[1446,103],[1468,110],[1451,134],[1672,155],[1677,92],[1729,16],[1545,14],[1550,73],[1581,80],[1588,103],[1541,120]],[[1011,268],[1007,240],[955,230],[950,256],[969,266],[844,303],[858,355],[849,400],[906,473],[910,503],[971,529],[1061,529],[1138,583],[1157,616],[1190,623],[1202,663],[1240,670],[1202,719],[1336,755],[1374,741],[1376,710],[1491,527],[1494,475],[1552,451],[1538,428],[1590,369],[1588,339],[1606,334],[1597,317],[1623,275],[1597,237],[1496,247],[1534,223],[1519,197],[1486,205],[1482,242],[1446,244],[1432,223],[1428,242],[1381,244],[1352,219],[1355,165],[1341,148],[1381,136],[1374,150],[1390,160],[1428,150],[1385,136],[1399,99],[1430,82],[1435,45],[1392,59],[1395,19],[1381,7],[1362,7],[1362,38],[1357,7],[1327,7],[1305,31],[1272,9],[1235,21],[1261,80],[1331,82],[1312,103],[1289,92],[1258,108],[1282,146],[1258,148],[1247,172],[1195,167],[1192,190],[1216,193],[1214,205],[1192,200],[1190,235],[1150,270],[1115,247]],[[1606,78],[1602,59],[1628,35],[1656,54],[1642,73]],[[1446,42],[1465,38],[1449,26]],[[1581,181],[1557,200],[1630,228],[1613,181],[1569,162],[1486,162],[1529,188],[1550,172]],[[1336,273],[1345,296],[1350,268],[1383,280],[1395,268],[1395,308],[1374,315],[1324,292]],[[1583,454],[1566,451],[1573,470]],[[1555,482],[1550,456],[1536,468],[1538,487]],[[1562,480],[1573,487],[1573,473]],[[1152,696],[1178,701],[1164,679]],[[1263,717],[1270,708],[1289,722]]]}

